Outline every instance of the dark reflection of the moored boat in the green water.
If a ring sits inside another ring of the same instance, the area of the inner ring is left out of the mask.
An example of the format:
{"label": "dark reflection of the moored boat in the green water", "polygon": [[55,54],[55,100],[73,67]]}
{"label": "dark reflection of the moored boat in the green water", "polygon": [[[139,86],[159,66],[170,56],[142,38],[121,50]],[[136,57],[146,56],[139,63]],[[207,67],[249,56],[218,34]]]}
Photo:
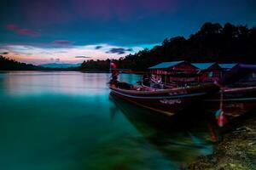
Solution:
{"label": "dark reflection of the moored boat in the green water", "polygon": [[113,95],[110,99],[116,104],[115,109],[120,109],[143,137],[174,165],[183,166],[197,156],[211,154],[213,144],[218,140],[218,127],[207,117],[191,117],[191,114],[182,113],[167,119]]}

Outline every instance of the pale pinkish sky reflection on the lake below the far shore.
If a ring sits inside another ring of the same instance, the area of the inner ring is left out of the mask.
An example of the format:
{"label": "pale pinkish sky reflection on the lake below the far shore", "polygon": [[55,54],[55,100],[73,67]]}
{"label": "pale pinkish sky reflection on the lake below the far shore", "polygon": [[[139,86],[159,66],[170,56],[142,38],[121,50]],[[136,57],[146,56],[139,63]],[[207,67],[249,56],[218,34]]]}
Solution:
{"label": "pale pinkish sky reflection on the lake below the far shore", "polygon": [[106,82],[109,77],[108,74],[72,71],[13,71],[2,75],[2,90],[9,95],[100,95],[106,93]]}

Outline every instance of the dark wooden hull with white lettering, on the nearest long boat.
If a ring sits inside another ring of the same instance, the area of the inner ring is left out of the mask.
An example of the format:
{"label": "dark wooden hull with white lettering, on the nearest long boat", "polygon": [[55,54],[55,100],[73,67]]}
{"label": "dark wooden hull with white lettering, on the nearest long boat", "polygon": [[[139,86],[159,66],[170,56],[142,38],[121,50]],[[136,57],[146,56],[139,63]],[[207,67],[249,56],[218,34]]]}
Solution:
{"label": "dark wooden hull with white lettering, on the nearest long boat", "polygon": [[137,91],[110,87],[111,94],[125,99],[135,105],[142,106],[152,111],[160,112],[166,116],[173,116],[183,111],[195,102],[217,90],[214,84],[194,88],[173,88],[157,91]]}

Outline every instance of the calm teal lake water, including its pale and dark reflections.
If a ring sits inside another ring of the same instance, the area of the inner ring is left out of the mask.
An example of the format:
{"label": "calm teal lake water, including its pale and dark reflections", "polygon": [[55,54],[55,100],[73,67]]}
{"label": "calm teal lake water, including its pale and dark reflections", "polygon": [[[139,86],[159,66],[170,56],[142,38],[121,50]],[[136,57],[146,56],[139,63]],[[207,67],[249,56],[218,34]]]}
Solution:
{"label": "calm teal lake water, including its pale and dark reflections", "polygon": [[[109,77],[0,74],[0,169],[179,169],[212,153],[214,123],[166,120],[111,97]],[[140,76],[120,79],[135,83]]]}

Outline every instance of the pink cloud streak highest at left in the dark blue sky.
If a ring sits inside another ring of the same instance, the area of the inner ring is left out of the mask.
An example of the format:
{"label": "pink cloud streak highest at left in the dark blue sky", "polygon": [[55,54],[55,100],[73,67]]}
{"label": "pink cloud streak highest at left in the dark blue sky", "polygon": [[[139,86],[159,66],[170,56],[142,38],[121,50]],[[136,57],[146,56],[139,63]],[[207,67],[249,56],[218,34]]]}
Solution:
{"label": "pink cloud streak highest at left in the dark blue sky", "polygon": [[41,33],[38,31],[32,31],[26,28],[20,28],[15,24],[6,25],[5,28],[9,31],[14,31],[16,34],[20,36],[29,36],[29,37],[40,37]]}

